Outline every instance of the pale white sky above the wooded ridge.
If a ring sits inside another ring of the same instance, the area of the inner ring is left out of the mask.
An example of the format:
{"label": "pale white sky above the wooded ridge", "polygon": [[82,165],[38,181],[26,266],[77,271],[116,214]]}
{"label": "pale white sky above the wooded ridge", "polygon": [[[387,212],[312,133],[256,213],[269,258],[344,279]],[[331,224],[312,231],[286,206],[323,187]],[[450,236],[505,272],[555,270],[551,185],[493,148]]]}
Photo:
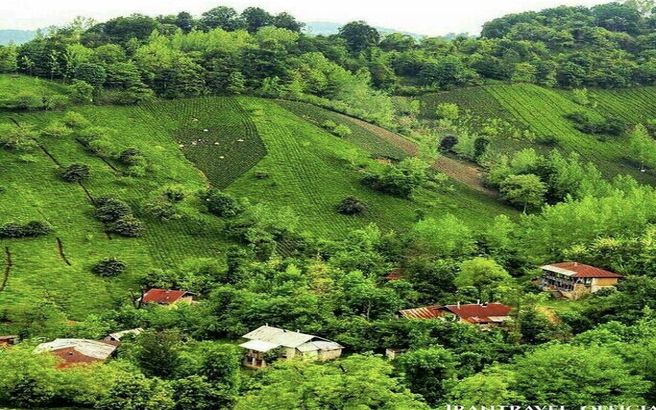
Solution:
{"label": "pale white sky above the wooded ridge", "polygon": [[0,29],[37,29],[63,25],[76,16],[104,21],[142,13],[151,16],[189,11],[200,15],[217,5],[242,10],[257,6],[269,12],[286,11],[301,21],[346,23],[365,20],[425,35],[478,34],[481,25],[508,13],[559,5],[607,3],[612,0],[0,0]]}

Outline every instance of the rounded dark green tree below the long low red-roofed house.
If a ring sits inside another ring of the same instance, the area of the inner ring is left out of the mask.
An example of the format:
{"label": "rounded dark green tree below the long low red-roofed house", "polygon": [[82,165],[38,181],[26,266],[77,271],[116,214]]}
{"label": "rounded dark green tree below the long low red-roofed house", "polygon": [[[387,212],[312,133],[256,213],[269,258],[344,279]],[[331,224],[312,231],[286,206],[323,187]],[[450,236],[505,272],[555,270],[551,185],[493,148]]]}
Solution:
{"label": "rounded dark green tree below the long low red-roofed house", "polygon": [[397,366],[410,390],[437,405],[456,379],[457,361],[442,346],[412,350],[403,354]]}

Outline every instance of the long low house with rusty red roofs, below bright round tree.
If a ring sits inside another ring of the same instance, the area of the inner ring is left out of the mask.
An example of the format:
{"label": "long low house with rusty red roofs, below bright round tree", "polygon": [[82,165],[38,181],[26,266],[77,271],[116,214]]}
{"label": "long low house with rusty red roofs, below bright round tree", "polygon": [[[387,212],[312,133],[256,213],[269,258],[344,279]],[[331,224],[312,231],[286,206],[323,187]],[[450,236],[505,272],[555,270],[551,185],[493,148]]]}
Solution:
{"label": "long low house with rusty red roofs, below bright round tree", "polygon": [[502,303],[468,303],[455,305],[431,305],[399,311],[405,319],[457,320],[482,328],[500,325],[510,320],[512,308]]}

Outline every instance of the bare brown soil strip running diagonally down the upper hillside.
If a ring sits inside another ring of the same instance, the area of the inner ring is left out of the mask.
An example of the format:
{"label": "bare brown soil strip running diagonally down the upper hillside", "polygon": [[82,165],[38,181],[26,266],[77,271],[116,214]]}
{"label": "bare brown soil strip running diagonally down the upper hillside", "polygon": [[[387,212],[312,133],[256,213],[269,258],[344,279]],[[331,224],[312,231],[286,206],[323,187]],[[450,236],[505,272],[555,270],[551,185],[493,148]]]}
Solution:
{"label": "bare brown soil strip running diagonally down the upper hillside", "polygon": [[[378,125],[370,124],[366,121],[349,117],[344,114],[340,114],[340,116],[366,129],[367,131],[376,134],[379,138],[384,139],[385,141],[399,147],[408,155],[416,156],[419,154],[419,148],[417,147],[417,144],[408,140],[407,138],[402,137],[399,134],[379,127]],[[432,168],[443,172],[451,179],[465,184],[471,189],[482,192],[489,196],[497,196],[495,191],[485,187],[483,184],[483,170],[474,164],[467,163],[465,161],[459,161],[450,157],[440,156],[433,163]]]}

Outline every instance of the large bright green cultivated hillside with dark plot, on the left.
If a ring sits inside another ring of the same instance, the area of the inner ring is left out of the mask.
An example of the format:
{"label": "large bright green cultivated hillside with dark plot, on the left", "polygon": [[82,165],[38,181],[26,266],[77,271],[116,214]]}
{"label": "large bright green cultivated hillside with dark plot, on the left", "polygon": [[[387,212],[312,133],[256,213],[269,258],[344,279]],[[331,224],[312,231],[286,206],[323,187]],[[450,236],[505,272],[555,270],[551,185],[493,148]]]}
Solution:
{"label": "large bright green cultivated hillside with dark plot, on the left", "polygon": [[[453,213],[474,226],[499,213],[514,214],[459,184],[445,192],[422,189],[412,201],[364,188],[354,165],[377,164],[379,147],[367,145],[376,134],[362,127],[356,140],[341,139],[283,106],[258,98],[216,97],[141,107],[75,107],[95,126],[113,129],[117,146],[143,152],[148,161],[145,177],[127,176],[124,165],[90,155],[72,137],[40,137],[40,148],[29,154],[0,150],[0,225],[39,220],[53,228],[41,238],[0,241],[7,268],[6,285],[0,290],[0,330],[11,330],[13,315],[24,315],[46,301],[60,306],[70,319],[82,319],[135,297],[136,278],[150,269],[179,269],[194,258],[221,260],[229,243],[223,223],[201,211],[193,195],[208,185],[252,203],[289,208],[305,231],[327,238],[369,223],[403,230],[418,212]],[[4,112],[0,123],[40,129],[63,114]],[[356,122],[349,126],[358,127]],[[385,150],[403,152],[389,142],[380,145],[385,144]],[[375,149],[370,152],[368,147]],[[58,173],[73,163],[90,166],[89,181],[78,185],[61,180]],[[189,192],[183,217],[162,222],[148,216],[144,205],[170,185]],[[337,204],[350,195],[369,205],[365,215],[336,212]],[[104,196],[131,205],[145,224],[141,238],[104,233],[93,206]],[[111,280],[92,274],[92,266],[105,257],[127,262],[127,273]]]}

